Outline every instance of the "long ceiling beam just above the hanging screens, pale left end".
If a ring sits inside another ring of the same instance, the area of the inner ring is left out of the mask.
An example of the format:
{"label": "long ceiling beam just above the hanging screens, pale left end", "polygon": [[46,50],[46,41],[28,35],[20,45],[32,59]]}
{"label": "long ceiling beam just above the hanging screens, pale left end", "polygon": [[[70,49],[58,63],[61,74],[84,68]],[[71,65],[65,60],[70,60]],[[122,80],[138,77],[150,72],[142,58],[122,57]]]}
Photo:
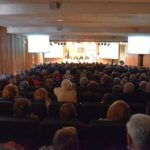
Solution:
{"label": "long ceiling beam just above the hanging screens, pale left end", "polygon": [[150,33],[150,27],[8,27],[8,33],[68,33],[68,34],[104,34],[104,33],[112,33],[112,34],[132,34],[132,33]]}

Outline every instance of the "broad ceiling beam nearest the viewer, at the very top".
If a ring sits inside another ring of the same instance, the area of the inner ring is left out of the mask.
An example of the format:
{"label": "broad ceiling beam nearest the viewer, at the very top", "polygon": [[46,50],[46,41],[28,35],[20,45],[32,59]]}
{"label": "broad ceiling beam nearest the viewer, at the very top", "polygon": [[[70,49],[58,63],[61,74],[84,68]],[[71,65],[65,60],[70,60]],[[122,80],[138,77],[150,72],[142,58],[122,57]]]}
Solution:
{"label": "broad ceiling beam nearest the viewer, at the very top", "polygon": [[106,2],[63,2],[60,9],[49,9],[49,4],[1,4],[0,15],[38,14],[56,11],[63,14],[69,12],[100,14],[149,14],[150,3],[106,3]]}

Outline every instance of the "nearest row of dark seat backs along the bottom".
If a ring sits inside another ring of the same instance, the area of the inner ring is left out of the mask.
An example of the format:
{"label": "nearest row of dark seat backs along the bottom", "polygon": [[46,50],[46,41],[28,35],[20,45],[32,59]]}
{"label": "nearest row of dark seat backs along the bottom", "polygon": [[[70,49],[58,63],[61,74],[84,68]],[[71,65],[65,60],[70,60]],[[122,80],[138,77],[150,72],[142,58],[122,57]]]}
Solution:
{"label": "nearest row of dark seat backs along the bottom", "polygon": [[126,147],[126,125],[113,121],[92,121],[88,126],[77,121],[44,119],[41,123],[30,119],[0,117],[0,141],[15,140],[28,150],[50,145],[57,129],[74,126],[78,131],[82,150],[123,150]]}

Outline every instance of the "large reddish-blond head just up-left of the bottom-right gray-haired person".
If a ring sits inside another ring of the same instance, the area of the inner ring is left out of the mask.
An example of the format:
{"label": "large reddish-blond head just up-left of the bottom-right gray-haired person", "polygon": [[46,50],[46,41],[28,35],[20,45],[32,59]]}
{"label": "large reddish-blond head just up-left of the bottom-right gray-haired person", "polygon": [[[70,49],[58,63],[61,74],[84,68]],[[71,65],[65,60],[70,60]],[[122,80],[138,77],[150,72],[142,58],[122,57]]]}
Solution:
{"label": "large reddish-blond head just up-left of the bottom-right gray-haired person", "polygon": [[110,105],[107,111],[107,119],[111,121],[128,121],[130,117],[130,107],[123,100],[117,100]]}

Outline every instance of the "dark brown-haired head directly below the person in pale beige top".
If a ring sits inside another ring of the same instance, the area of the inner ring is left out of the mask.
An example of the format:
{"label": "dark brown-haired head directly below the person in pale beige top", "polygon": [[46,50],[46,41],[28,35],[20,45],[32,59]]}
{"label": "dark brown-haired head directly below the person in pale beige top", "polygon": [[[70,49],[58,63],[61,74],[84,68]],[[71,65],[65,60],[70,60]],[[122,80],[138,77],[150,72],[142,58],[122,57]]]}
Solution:
{"label": "dark brown-haired head directly below the person in pale beige top", "polygon": [[76,118],[77,112],[73,104],[65,103],[60,107],[61,120],[73,120]]}

